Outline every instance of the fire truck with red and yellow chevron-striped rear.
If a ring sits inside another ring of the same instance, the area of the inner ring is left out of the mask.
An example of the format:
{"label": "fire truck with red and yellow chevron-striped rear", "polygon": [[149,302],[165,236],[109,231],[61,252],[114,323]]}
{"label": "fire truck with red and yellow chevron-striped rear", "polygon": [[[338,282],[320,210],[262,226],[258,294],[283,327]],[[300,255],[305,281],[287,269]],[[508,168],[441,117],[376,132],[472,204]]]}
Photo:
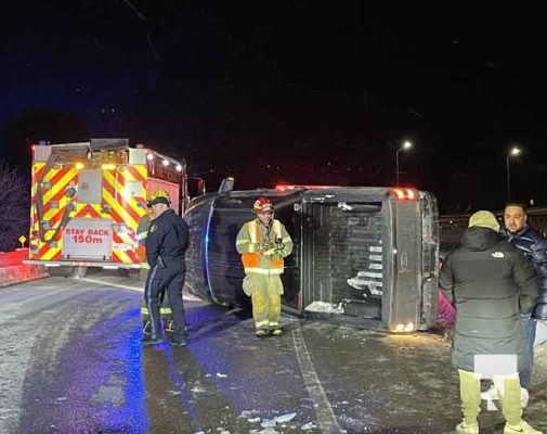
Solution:
{"label": "fire truck with red and yellow chevron-striped rear", "polygon": [[[139,276],[136,228],[147,196],[166,190],[182,215],[186,165],[128,139],[32,145],[30,237],[26,264],[61,267],[82,278],[88,267]],[[57,268],[58,269],[58,268]]]}

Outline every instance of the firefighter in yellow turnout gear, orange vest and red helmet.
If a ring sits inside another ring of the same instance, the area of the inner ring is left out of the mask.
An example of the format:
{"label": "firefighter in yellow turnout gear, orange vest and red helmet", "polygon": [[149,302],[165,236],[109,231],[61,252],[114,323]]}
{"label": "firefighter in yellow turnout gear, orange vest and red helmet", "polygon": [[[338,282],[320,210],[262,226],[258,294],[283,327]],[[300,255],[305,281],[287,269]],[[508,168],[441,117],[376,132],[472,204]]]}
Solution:
{"label": "firefighter in yellow turnout gear, orange vest and red helmet", "polygon": [[292,252],[292,240],[285,226],[273,218],[273,204],[260,197],[253,204],[257,218],[244,224],[236,239],[245,268],[243,291],[251,297],[257,336],[281,336],[281,296],[284,257]]}

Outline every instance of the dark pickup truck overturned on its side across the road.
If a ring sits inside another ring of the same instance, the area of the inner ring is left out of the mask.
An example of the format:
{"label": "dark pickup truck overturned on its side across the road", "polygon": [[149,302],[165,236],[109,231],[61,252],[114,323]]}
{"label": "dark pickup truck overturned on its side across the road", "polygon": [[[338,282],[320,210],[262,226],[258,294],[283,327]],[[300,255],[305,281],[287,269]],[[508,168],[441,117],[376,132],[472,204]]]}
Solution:
{"label": "dark pickup truck overturned on its side across the road", "polygon": [[439,215],[407,188],[283,187],[219,191],[194,200],[186,281],[216,303],[248,306],[235,248],[252,203],[269,197],[295,243],[282,276],[284,310],[390,332],[437,320]]}

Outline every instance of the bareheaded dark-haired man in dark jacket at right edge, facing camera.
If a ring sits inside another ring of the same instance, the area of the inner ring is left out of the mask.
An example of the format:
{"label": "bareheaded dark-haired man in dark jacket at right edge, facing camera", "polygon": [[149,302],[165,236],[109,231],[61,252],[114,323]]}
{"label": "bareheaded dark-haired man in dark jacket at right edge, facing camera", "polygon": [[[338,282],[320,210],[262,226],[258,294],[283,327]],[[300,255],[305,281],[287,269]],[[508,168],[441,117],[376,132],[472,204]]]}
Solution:
{"label": "bareheaded dark-haired man in dark jacket at right edge, facing camera", "polygon": [[526,209],[522,204],[507,204],[504,210],[504,222],[505,228],[502,234],[533,265],[539,286],[539,298],[532,315],[523,317],[529,365],[520,372],[520,384],[528,391],[534,367],[536,320],[547,319],[547,239],[529,226]]}

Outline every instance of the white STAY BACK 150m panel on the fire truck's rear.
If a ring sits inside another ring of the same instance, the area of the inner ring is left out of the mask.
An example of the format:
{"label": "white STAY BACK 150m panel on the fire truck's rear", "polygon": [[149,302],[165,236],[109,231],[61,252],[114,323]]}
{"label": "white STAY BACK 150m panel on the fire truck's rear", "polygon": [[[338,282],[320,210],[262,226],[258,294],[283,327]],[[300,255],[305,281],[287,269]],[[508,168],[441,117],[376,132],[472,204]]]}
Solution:
{"label": "white STAY BACK 150m panel on the fire truck's rear", "polygon": [[112,258],[112,221],[106,218],[73,218],[63,230],[63,257]]}

